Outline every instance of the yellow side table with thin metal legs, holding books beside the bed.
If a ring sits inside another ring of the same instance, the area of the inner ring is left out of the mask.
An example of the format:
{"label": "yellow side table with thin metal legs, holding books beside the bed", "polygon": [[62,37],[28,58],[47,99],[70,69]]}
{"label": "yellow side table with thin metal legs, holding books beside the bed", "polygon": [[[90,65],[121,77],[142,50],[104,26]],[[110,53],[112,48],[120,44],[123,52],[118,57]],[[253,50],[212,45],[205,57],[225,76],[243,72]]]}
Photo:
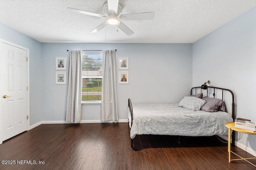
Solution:
{"label": "yellow side table with thin metal legs, holding books beside the bed", "polygon": [[[242,158],[241,156],[239,156],[238,154],[236,154],[236,153],[234,153],[234,152],[232,152],[230,150],[230,136],[231,136],[231,130],[237,131],[237,132],[241,132],[241,133],[247,133],[247,134],[250,134],[250,135],[256,135],[256,132],[249,131],[249,130],[246,130],[246,129],[236,128],[235,127],[235,122],[226,122],[225,126],[228,127],[228,162],[230,162],[231,160],[245,160],[246,162],[252,164],[247,159],[255,159],[256,157],[253,157],[253,158]],[[233,153],[236,156],[240,157],[240,159],[230,159],[230,154],[231,153]],[[254,165],[254,164],[252,164],[252,165],[256,167],[256,165]]]}

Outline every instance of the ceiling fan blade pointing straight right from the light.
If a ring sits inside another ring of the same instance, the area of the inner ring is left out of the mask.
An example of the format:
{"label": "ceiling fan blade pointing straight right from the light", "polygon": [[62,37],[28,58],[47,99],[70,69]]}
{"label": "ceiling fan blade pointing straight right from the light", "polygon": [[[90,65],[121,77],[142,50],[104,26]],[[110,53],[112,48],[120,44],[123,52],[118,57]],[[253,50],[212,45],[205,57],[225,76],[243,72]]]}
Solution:
{"label": "ceiling fan blade pointing straight right from the light", "polygon": [[122,14],[119,17],[121,20],[154,20],[154,12],[144,12],[136,14]]}

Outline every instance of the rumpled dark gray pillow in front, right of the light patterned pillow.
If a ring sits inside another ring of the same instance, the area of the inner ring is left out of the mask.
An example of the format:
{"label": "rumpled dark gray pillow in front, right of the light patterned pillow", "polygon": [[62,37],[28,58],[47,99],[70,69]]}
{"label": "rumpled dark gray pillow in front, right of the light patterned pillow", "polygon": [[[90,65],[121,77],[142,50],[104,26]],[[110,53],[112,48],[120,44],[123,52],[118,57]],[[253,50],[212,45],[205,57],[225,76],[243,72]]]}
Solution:
{"label": "rumpled dark gray pillow in front, right of the light patterned pillow", "polygon": [[201,110],[207,112],[226,111],[224,102],[221,99],[216,98],[202,98],[206,103],[201,107]]}

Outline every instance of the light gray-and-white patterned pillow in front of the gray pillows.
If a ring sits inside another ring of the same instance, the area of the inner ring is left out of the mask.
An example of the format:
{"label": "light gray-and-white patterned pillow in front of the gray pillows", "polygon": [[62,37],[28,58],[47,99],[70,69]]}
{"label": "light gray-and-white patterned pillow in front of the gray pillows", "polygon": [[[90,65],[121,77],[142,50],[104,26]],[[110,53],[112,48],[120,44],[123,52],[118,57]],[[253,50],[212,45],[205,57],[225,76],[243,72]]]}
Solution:
{"label": "light gray-and-white patterned pillow in front of the gray pillows", "polygon": [[200,110],[201,107],[205,104],[205,100],[202,100],[200,98],[192,97],[192,96],[185,96],[178,106],[185,107],[192,111]]}

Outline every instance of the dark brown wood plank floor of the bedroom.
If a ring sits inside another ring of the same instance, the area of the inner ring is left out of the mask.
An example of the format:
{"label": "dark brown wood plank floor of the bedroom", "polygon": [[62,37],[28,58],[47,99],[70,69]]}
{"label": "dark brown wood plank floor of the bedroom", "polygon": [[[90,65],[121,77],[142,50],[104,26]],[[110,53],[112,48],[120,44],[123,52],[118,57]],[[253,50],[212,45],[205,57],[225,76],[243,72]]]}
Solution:
{"label": "dark brown wood plank floor of the bedroom", "polygon": [[[215,136],[177,141],[176,136],[137,135],[133,150],[128,123],[44,124],[0,145],[0,160],[16,162],[0,164],[0,169],[256,169],[244,160],[228,163],[227,144]],[[252,156],[238,147],[232,150]]]}

